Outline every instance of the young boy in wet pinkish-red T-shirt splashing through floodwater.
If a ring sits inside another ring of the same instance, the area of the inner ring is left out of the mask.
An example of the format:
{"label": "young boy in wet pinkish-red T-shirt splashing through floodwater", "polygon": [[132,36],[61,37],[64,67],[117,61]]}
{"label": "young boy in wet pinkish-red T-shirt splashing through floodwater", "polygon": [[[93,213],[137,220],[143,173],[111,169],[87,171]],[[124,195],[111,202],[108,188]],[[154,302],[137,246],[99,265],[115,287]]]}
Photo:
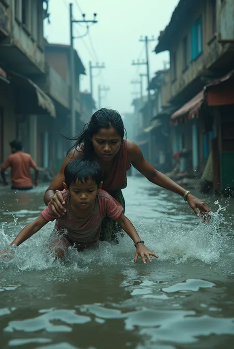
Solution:
{"label": "young boy in wet pinkish-red T-shirt splashing through floodwater", "polygon": [[[122,213],[122,206],[102,188],[102,172],[96,161],[85,158],[71,161],[64,170],[65,181],[62,192],[65,201],[66,213],[55,217],[50,204],[41,212],[41,215],[24,227],[10,246],[19,246],[32,235],[37,233],[49,221],[56,219],[55,228],[66,231],[66,235],[56,236],[50,248],[55,254],[63,258],[70,246],[79,251],[94,247],[99,241],[101,223],[105,216],[115,219],[120,227],[130,236],[136,247],[135,259],[138,256],[146,263],[151,262],[151,252],[139,237],[136,229]],[[1,253],[7,253],[6,250]]]}

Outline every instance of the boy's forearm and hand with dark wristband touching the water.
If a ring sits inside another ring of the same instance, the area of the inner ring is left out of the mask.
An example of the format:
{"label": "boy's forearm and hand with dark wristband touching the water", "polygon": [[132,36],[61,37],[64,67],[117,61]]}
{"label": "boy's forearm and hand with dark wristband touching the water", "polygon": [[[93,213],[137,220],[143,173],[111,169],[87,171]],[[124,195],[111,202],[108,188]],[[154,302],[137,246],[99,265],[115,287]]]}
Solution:
{"label": "boy's forearm and hand with dark wristband touching the water", "polygon": [[[120,227],[127,233],[127,235],[132,239],[134,243],[141,241],[141,238],[138,235],[135,227],[123,213],[120,214],[120,216],[116,219],[116,221],[120,225]],[[151,250],[149,250],[144,243],[137,244],[134,262],[137,261],[138,256],[141,257],[144,263],[146,263],[145,257],[147,257],[149,262],[152,262],[150,257],[151,255],[158,258],[158,256],[155,253],[153,253]]]}

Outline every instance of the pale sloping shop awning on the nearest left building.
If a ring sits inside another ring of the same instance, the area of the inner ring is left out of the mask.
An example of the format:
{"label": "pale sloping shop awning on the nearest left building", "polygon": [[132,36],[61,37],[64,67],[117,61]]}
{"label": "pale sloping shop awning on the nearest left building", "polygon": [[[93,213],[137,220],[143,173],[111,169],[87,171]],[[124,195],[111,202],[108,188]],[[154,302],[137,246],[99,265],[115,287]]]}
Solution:
{"label": "pale sloping shop awning on the nearest left building", "polygon": [[[31,91],[32,94],[34,94],[34,97],[36,97],[36,103],[38,107],[42,108],[44,111],[46,111],[48,114],[50,114],[53,117],[56,117],[56,110],[54,102],[39,88],[38,85],[36,85],[32,80],[29,78],[20,75],[18,73],[11,72],[10,73],[11,80],[15,85],[18,85],[20,89],[24,88],[27,91]],[[25,96],[22,91],[21,93],[21,102],[23,102],[22,98],[25,99],[25,101],[28,101],[28,104],[33,104],[32,100],[30,100],[29,96]],[[25,103],[24,101],[24,103]],[[22,103],[21,103],[22,104]],[[25,108],[27,111],[29,111],[29,108],[25,105]],[[36,113],[36,108],[34,109]],[[33,113],[33,112],[32,112]]]}

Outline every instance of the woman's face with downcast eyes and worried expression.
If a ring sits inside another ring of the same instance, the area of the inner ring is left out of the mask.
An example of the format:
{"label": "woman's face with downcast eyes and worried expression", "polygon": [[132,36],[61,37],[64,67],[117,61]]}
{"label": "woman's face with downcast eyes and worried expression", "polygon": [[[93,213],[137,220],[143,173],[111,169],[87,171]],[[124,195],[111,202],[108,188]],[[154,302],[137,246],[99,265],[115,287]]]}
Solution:
{"label": "woman's face with downcast eyes and worried expression", "polygon": [[114,127],[108,129],[100,128],[98,132],[93,135],[92,142],[96,154],[103,161],[110,161],[116,156],[121,146],[121,137]]}

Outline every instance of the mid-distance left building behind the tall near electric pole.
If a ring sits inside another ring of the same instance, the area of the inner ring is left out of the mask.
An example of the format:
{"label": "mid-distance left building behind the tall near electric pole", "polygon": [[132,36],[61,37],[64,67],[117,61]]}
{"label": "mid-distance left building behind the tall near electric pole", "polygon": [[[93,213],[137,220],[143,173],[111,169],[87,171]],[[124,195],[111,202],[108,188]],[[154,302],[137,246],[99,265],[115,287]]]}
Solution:
{"label": "mid-distance left building behind the tall near electric pole", "polygon": [[66,137],[78,135],[83,127],[80,120],[79,77],[85,74],[85,68],[76,50],[74,54],[76,130],[71,129],[70,116],[70,47],[45,41],[45,74],[37,78],[38,85],[53,100],[56,109],[56,120],[51,122],[47,118],[38,125],[38,163],[41,167],[50,167],[54,171],[59,170],[72,146],[72,142]]}

